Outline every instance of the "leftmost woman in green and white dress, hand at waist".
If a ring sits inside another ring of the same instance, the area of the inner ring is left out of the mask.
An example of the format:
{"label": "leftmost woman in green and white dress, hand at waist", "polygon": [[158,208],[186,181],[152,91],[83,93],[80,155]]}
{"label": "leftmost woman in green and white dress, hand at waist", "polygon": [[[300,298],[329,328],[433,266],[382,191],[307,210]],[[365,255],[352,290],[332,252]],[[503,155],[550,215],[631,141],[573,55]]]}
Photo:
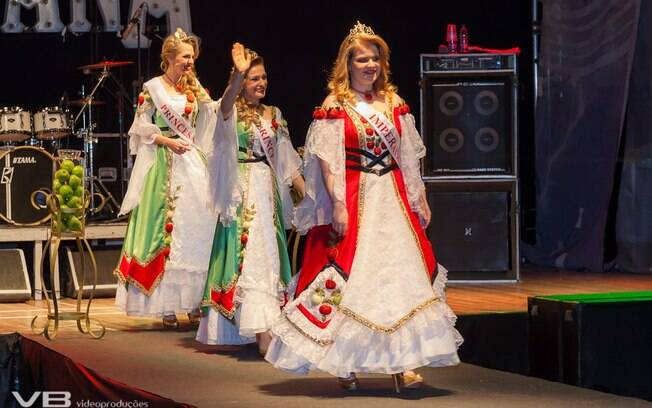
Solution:
{"label": "leftmost woman in green and white dress, hand at waist", "polygon": [[199,320],[216,217],[208,207],[206,151],[215,103],[199,84],[198,40],[182,30],[161,51],[163,75],[139,96],[129,146],[136,161],[120,209],[131,212],[115,274],[116,304],[130,316]]}

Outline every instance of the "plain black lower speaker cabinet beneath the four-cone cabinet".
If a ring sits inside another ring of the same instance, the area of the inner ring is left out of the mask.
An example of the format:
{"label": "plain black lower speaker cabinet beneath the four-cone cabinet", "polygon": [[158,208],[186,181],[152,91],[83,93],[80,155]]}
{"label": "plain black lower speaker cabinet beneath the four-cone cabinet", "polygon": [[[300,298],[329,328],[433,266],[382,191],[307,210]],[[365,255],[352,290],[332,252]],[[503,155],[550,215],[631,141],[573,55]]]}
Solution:
{"label": "plain black lower speaker cabinet beneath the four-cone cabinet", "polygon": [[427,229],[451,282],[519,279],[516,179],[427,180]]}

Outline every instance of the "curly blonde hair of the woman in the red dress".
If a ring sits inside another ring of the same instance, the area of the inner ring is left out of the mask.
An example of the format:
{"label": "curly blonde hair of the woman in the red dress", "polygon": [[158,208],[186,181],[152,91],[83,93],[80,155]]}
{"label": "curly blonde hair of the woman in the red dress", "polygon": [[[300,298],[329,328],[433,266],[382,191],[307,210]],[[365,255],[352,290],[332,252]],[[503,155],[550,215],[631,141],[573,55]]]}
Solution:
{"label": "curly blonde hair of the woman in the red dress", "polygon": [[353,100],[355,94],[351,90],[351,74],[349,67],[353,52],[362,45],[375,45],[378,48],[380,57],[380,73],[374,83],[374,91],[383,96],[392,96],[396,93],[396,86],[390,82],[391,71],[389,69],[389,46],[379,35],[358,33],[348,35],[340,44],[340,50],[333,64],[328,79],[328,90],[338,101]]}

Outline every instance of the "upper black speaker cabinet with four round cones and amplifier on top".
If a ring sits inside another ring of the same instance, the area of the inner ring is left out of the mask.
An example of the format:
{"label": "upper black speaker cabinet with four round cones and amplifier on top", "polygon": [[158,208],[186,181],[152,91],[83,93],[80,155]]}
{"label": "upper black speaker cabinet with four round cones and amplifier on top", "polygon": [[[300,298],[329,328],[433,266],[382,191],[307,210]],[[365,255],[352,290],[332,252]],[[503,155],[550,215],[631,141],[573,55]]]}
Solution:
{"label": "upper black speaker cabinet with four round cones and amplifier on top", "polygon": [[424,176],[516,176],[516,56],[421,58]]}

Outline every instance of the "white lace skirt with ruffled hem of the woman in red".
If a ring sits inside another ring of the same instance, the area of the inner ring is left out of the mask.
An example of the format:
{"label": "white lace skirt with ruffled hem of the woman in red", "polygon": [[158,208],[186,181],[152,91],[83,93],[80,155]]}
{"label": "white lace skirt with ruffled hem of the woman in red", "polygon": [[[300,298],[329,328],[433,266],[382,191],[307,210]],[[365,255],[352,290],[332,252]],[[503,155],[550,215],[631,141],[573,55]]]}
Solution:
{"label": "white lace skirt with ruffled hem of the woman in red", "polygon": [[[363,177],[364,204],[348,281],[332,267],[322,271],[286,306],[265,358],[295,373],[318,369],[340,377],[458,364],[462,338],[445,301],[446,270],[439,268],[432,285],[392,176]],[[342,297],[327,328],[319,329],[297,306],[315,311],[310,297],[327,279],[343,287]]]}

